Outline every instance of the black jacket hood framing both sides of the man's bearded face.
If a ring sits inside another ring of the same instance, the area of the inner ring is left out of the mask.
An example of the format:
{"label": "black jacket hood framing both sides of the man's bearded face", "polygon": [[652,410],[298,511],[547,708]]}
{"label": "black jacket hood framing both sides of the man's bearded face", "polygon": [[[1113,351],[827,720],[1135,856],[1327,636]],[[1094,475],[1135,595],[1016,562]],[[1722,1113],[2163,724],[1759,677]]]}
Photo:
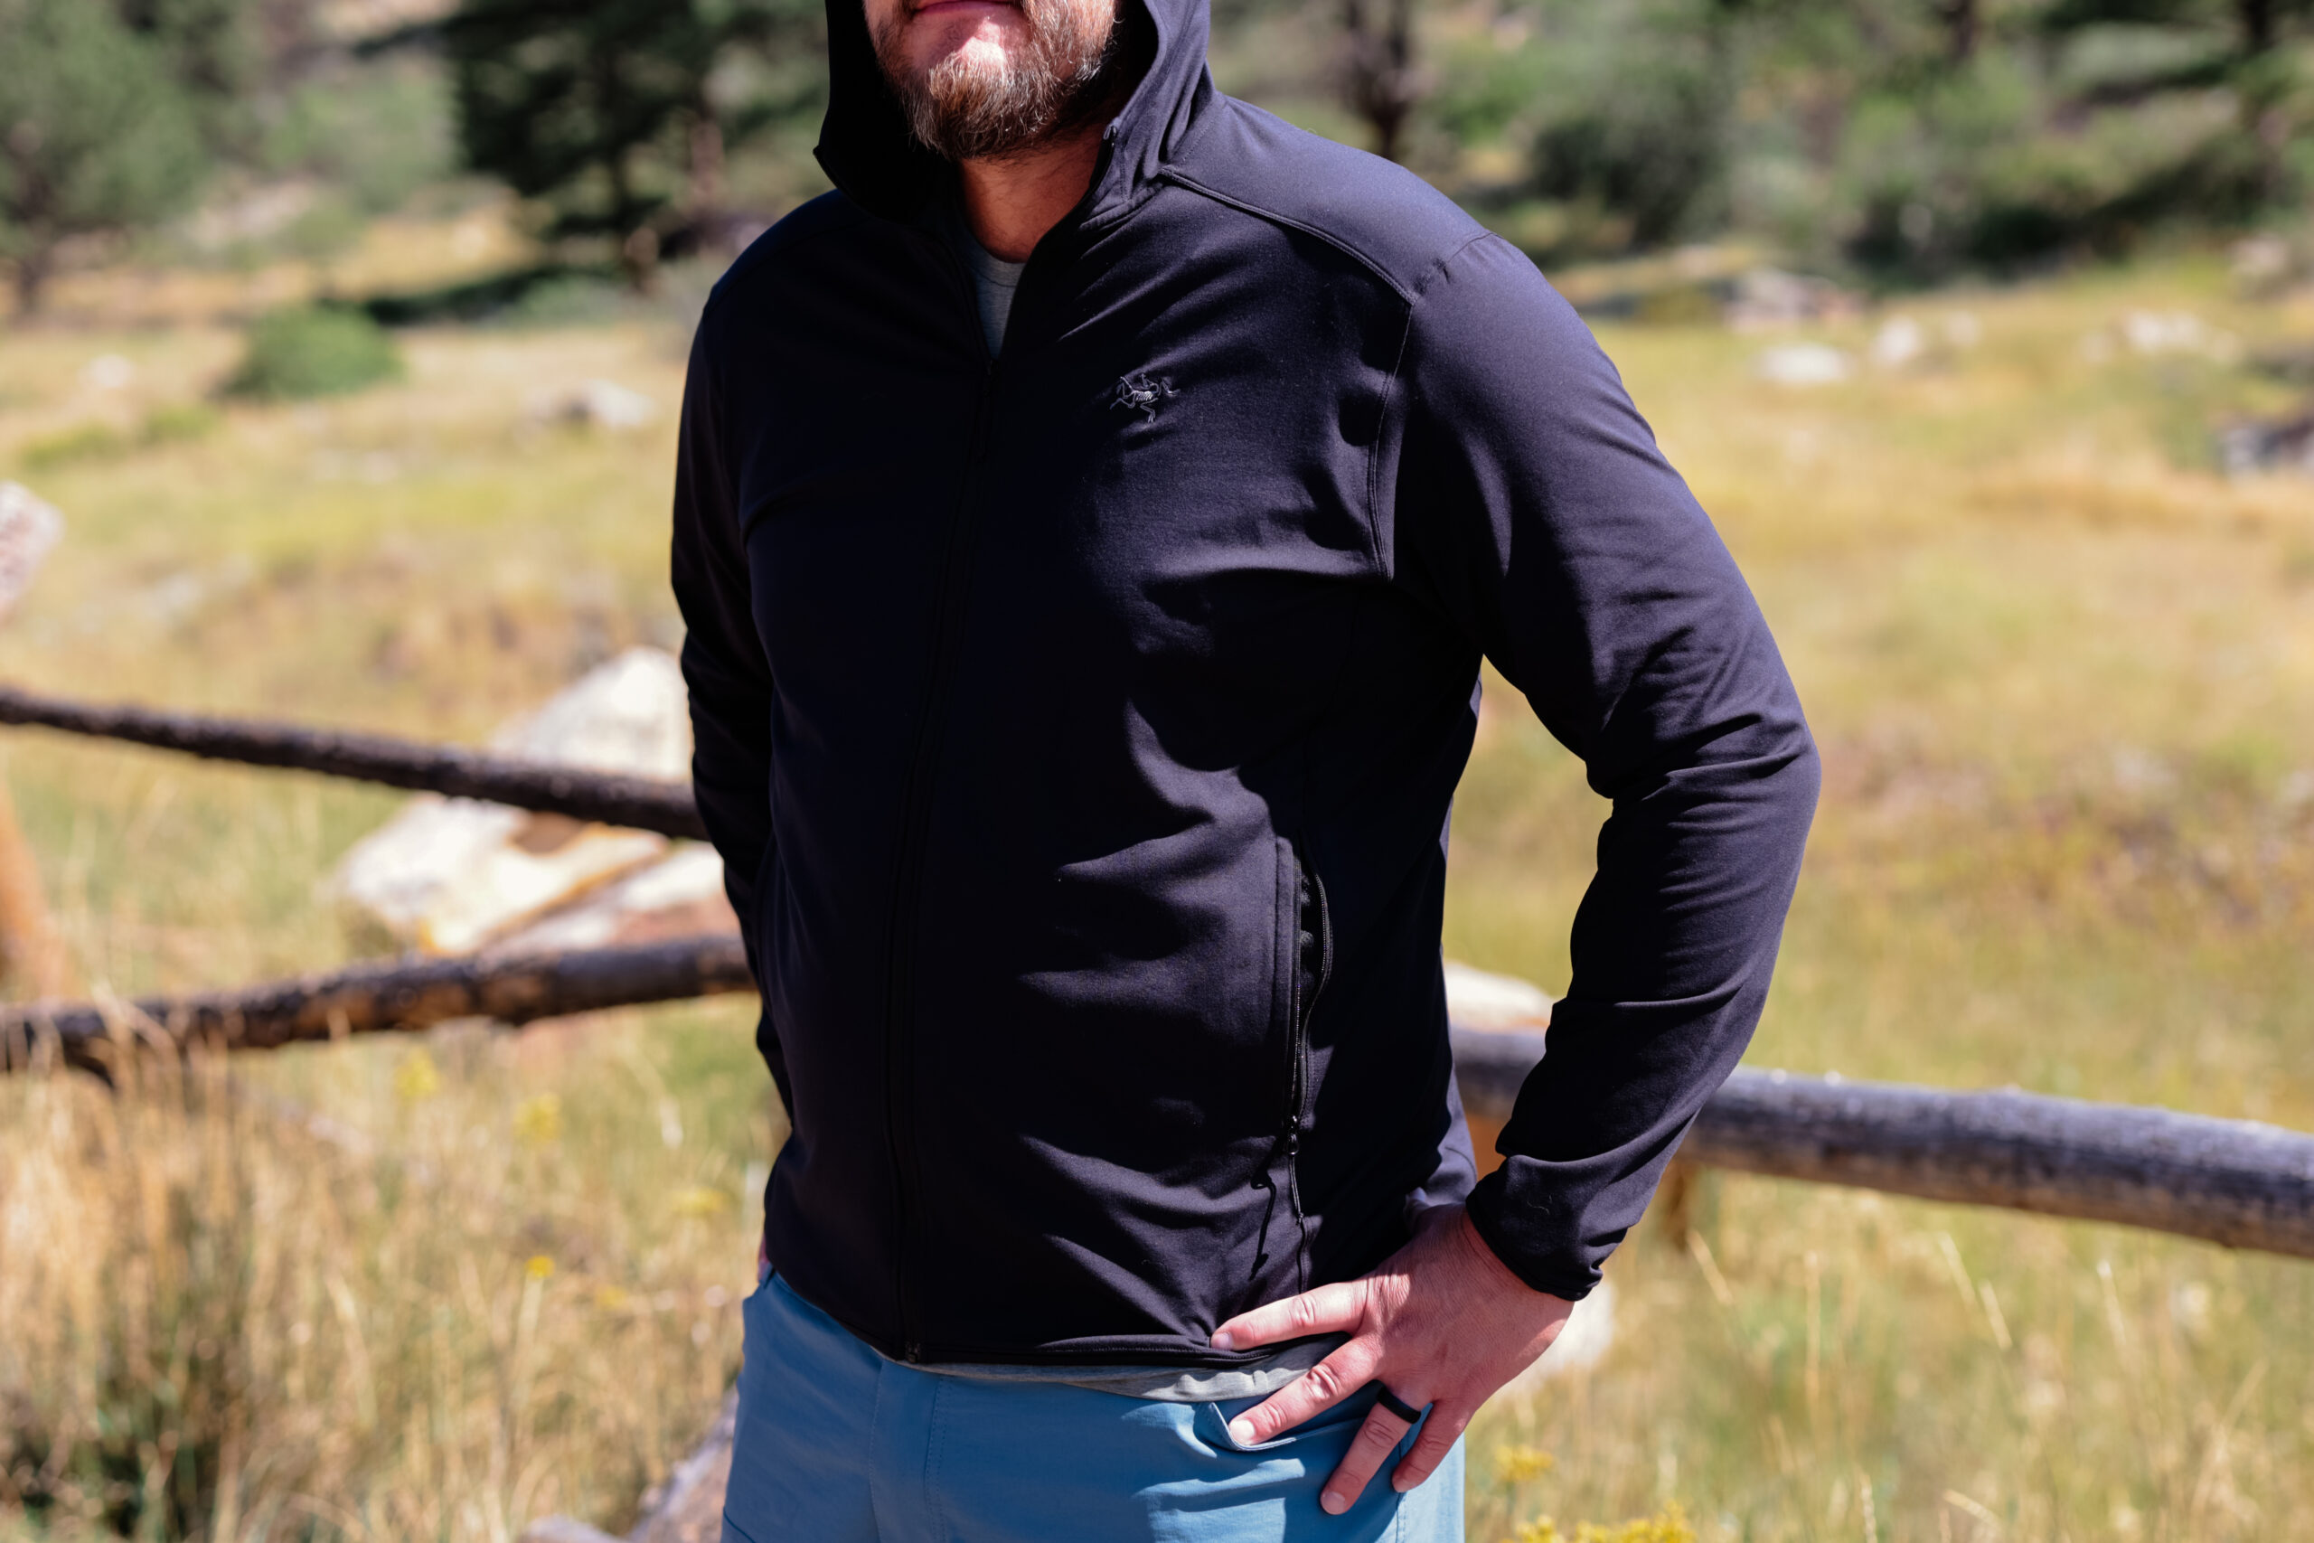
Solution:
{"label": "black jacket hood framing both sides of the man's bearded face", "polygon": [[[1180,148],[1199,102],[1213,93],[1206,76],[1208,0],[1118,5],[1148,16],[1157,49],[1104,134],[1101,167],[1083,204],[1088,222],[1136,201]],[[828,116],[815,155],[845,197],[889,220],[914,215],[949,178],[949,164],[916,141],[884,83],[863,0],[828,0]]]}

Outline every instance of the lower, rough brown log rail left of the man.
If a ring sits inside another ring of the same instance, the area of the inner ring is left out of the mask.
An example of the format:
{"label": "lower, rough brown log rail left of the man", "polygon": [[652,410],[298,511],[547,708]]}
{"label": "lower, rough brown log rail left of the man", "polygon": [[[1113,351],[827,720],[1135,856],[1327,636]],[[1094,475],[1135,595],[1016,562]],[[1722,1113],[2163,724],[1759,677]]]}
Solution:
{"label": "lower, rough brown log rail left of the man", "polygon": [[53,1036],[72,1066],[109,1076],[125,1043],[187,1050],[278,1046],[340,1034],[423,1029],[451,1018],[530,1022],[609,1006],[754,990],[736,937],[685,937],[632,948],[467,955],[417,965],[354,965],[241,990],[102,1006],[16,1002],[0,1009],[0,1069],[35,1060]]}

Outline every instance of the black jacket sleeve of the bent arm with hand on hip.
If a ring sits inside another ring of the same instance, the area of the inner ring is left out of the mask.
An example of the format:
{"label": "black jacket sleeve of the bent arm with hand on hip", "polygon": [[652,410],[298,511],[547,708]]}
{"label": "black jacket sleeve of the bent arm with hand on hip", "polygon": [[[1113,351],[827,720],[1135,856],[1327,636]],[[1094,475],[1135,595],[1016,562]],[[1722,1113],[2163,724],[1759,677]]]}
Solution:
{"label": "black jacket sleeve of the bent arm with hand on hip", "polygon": [[1548,1053],[1469,1198],[1520,1279],[1580,1298],[1759,1022],[1816,752],[1736,562],[1518,250],[1432,273],[1400,389],[1400,578],[1613,800]]}

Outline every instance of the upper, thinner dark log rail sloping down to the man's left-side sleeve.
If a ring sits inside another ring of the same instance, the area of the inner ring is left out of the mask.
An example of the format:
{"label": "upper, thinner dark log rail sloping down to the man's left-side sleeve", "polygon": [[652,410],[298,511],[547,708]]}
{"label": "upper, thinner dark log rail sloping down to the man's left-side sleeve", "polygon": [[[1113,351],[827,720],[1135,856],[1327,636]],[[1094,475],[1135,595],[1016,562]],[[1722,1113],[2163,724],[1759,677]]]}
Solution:
{"label": "upper, thinner dark log rail sloping down to the man's left-side sleeve", "polygon": [[692,791],[657,777],[622,777],[572,766],[493,756],[458,745],[423,745],[382,733],[336,733],[197,713],[95,706],[0,687],[0,724],[62,729],[208,761],[310,770],[382,782],[449,798],[484,798],[516,810],[569,814],[604,826],[703,837]]}

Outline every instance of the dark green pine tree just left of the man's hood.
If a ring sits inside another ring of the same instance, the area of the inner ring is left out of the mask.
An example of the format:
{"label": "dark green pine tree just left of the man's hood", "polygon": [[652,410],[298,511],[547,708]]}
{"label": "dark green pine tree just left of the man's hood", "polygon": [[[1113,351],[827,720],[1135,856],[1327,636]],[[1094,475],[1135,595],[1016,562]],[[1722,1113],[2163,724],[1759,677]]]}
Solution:
{"label": "dark green pine tree just left of the man's hood", "polygon": [[548,238],[713,238],[727,143],[782,104],[720,99],[740,49],[817,46],[817,0],[463,0],[442,23],[467,164],[548,211]]}

